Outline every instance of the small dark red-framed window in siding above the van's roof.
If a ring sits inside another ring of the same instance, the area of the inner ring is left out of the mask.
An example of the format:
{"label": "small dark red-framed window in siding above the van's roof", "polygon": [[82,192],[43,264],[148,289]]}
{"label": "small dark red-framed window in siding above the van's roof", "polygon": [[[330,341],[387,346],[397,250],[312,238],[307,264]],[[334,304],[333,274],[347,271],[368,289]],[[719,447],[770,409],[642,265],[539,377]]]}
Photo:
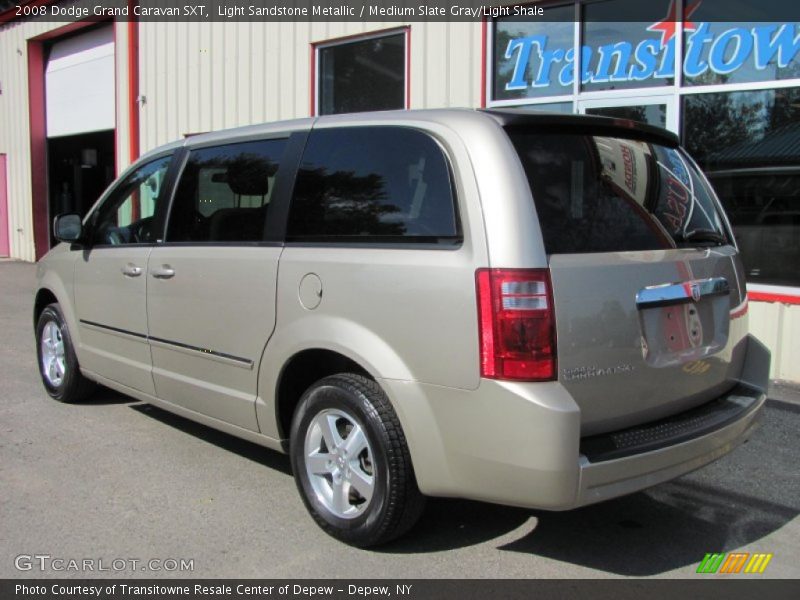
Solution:
{"label": "small dark red-framed window in siding above the van's roof", "polygon": [[325,46],[318,52],[319,114],[405,108],[405,33]]}

